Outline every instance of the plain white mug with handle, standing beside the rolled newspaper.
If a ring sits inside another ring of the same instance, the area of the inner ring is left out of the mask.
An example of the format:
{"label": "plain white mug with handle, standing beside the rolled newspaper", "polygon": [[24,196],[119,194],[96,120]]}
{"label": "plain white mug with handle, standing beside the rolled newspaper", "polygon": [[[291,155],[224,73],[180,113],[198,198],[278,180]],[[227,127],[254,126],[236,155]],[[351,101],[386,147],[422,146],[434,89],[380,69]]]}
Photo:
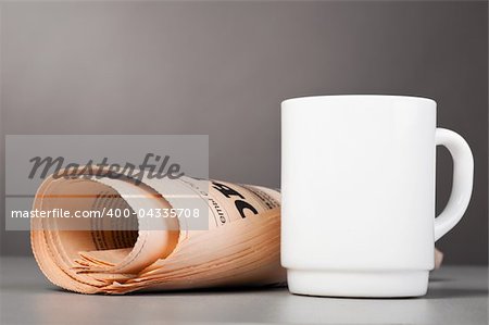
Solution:
{"label": "plain white mug with handle, standing beside the rolled newspaper", "polygon": [[[453,187],[435,218],[436,146]],[[474,160],[436,127],[436,102],[406,96],[318,96],[281,103],[281,264],[292,293],[415,297],[435,241],[463,216]]]}

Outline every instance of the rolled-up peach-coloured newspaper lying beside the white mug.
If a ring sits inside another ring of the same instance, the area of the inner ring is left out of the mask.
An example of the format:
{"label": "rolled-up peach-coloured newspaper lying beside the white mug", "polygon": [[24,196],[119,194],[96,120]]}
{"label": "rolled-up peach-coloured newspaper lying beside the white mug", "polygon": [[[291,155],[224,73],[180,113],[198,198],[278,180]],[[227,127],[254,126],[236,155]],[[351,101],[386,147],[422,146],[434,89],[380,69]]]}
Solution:
{"label": "rolled-up peach-coloured newspaper lying beside the white mug", "polygon": [[205,210],[209,228],[191,229],[183,224],[185,217],[139,214],[136,220],[105,218],[115,227],[90,218],[33,218],[34,255],[54,285],[83,293],[126,293],[286,282],[279,261],[278,191],[186,176],[145,175],[140,184],[128,177],[87,176],[93,175],[47,178],[34,209]]}

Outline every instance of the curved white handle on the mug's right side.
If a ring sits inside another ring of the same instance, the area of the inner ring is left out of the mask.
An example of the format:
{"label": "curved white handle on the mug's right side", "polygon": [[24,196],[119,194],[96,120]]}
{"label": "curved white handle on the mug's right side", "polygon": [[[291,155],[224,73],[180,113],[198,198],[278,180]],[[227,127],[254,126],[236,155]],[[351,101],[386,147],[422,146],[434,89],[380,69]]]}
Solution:
{"label": "curved white handle on the mug's right side", "polygon": [[452,192],[447,207],[435,218],[437,241],[459,223],[467,209],[474,182],[474,158],[468,143],[453,130],[437,128],[435,141],[437,146],[446,147],[453,159]]}

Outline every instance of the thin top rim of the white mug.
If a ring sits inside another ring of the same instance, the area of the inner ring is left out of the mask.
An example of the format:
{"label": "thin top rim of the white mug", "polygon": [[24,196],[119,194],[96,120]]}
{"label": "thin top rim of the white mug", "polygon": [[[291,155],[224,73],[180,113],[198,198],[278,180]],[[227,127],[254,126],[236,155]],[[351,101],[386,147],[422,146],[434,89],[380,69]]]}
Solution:
{"label": "thin top rim of the white mug", "polygon": [[425,102],[430,104],[437,104],[437,102],[427,97],[422,96],[409,96],[409,95],[378,95],[378,93],[343,93],[343,95],[316,95],[316,96],[302,96],[302,97],[293,97],[288,98],[281,101],[281,105],[285,103],[308,103],[310,101],[318,101],[318,100],[335,100],[335,99],[343,99],[343,98],[363,98],[365,100],[372,99],[400,99],[403,101],[416,101],[416,102]]}

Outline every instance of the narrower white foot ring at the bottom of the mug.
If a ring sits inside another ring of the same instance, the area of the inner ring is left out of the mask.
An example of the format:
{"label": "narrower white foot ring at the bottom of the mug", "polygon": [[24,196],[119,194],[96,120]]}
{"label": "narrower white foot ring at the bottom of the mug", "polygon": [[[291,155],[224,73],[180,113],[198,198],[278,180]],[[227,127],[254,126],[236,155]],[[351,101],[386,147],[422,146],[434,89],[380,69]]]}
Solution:
{"label": "narrower white foot ring at the bottom of the mug", "polygon": [[356,298],[419,297],[428,289],[429,271],[287,270],[296,295]]}

